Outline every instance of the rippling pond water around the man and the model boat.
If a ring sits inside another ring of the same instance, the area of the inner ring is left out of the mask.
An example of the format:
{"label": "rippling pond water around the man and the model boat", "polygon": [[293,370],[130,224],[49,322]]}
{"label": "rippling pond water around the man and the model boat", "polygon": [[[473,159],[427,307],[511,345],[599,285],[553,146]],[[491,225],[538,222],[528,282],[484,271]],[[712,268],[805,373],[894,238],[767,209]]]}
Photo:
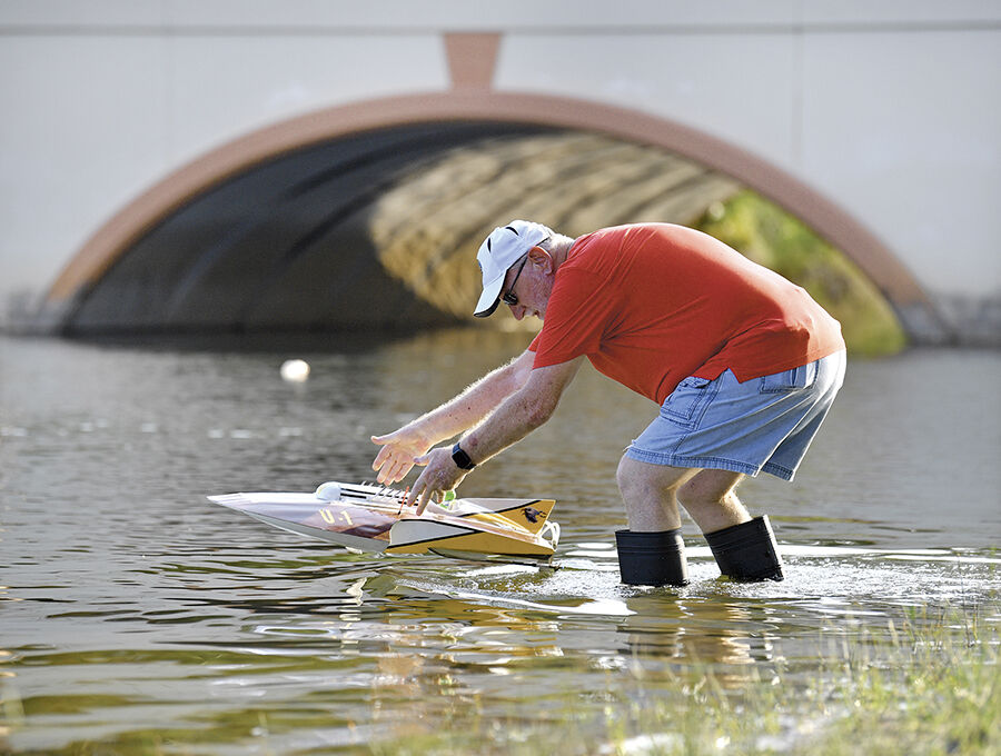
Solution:
{"label": "rippling pond water around the man and the model boat", "polygon": [[[850,366],[796,480],[742,486],[775,525],[781,584],[717,579],[691,523],[690,586],[618,584],[615,467],[655,408],[589,368],[462,490],[556,498],[559,569],[351,555],[204,498],[370,478],[369,435],[523,345],[0,339],[0,753],[394,753],[442,730],[531,752],[547,723],[599,738],[706,666],[740,688],[780,662],[809,677],[832,633],[1001,620],[997,352]],[[281,380],[290,357],[307,382]]]}

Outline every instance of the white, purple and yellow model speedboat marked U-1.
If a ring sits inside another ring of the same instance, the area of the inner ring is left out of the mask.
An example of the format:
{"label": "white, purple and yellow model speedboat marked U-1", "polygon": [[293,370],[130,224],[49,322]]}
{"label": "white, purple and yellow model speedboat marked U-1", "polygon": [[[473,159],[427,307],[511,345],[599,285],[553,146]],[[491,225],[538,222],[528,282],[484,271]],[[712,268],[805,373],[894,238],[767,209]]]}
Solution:
{"label": "white, purple and yellow model speedboat marked U-1", "polygon": [[470,498],[428,504],[419,517],[407,491],[329,481],[311,494],[209,496],[262,523],[359,551],[548,561],[559,541],[553,499]]}

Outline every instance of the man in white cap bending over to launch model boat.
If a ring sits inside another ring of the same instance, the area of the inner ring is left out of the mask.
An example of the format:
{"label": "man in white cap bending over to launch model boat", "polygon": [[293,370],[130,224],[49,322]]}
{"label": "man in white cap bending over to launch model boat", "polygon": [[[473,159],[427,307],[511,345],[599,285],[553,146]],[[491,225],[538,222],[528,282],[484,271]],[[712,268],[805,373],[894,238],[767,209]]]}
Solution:
{"label": "man in white cap bending over to launch model boat", "polygon": [[[681,226],[569,239],[515,220],[487,237],[477,260],[475,315],[503,301],[543,328],[524,354],[459,396],[374,436],[379,481],[423,465],[408,497],[423,513],[548,420],[586,357],[661,405],[618,466],[628,519],[615,534],[623,581],[687,581],[678,503],[724,575],[781,580],[767,517],[752,518],[735,488],[761,470],[792,479],[844,378],[839,322],[800,287]],[[458,434],[458,444],[432,448]]]}

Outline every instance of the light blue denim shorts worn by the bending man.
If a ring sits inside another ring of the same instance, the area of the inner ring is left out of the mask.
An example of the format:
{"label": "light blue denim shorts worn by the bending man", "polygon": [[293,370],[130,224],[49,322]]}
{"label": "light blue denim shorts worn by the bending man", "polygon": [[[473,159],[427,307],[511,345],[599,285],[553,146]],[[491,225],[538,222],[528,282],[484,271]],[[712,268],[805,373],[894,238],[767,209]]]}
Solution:
{"label": "light blue denim shorts worn by the bending man", "polygon": [[685,378],[626,456],[672,467],[764,470],[792,480],[844,381],[844,350],[743,384]]}

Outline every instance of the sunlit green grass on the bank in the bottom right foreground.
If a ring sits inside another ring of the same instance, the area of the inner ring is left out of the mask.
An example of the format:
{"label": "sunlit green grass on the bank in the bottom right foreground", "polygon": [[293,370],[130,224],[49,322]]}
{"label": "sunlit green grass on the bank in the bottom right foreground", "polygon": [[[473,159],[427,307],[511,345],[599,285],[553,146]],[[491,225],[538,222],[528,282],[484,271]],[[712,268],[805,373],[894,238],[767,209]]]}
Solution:
{"label": "sunlit green grass on the bank in the bottom right foreground", "polygon": [[[997,607],[989,616],[997,617]],[[994,756],[1001,754],[997,625],[969,613],[902,628],[819,634],[815,659],[756,663],[739,677],[706,665],[656,679],[637,660],[632,687],[565,694],[543,722],[437,723],[434,732],[370,744],[383,755]],[[593,702],[607,703],[604,718]],[[588,712],[574,705],[587,699]]]}

